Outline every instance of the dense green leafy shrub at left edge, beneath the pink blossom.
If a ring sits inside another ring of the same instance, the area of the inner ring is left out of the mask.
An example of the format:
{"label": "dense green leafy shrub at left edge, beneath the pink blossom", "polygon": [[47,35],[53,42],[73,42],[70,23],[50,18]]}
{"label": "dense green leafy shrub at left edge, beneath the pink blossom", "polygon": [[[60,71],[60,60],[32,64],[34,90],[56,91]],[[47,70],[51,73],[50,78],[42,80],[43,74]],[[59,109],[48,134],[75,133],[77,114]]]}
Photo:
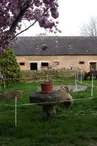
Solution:
{"label": "dense green leafy shrub at left edge, beneath the pink blossom", "polygon": [[20,81],[20,67],[12,48],[8,48],[5,53],[0,54],[0,70],[6,84]]}

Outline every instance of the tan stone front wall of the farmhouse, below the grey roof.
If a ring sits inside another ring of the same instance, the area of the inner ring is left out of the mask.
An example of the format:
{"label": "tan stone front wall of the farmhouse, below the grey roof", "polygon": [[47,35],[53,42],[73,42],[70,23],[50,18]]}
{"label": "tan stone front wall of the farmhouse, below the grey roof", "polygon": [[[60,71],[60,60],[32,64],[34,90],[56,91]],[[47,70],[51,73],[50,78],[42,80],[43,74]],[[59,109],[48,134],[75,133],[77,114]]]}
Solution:
{"label": "tan stone front wall of the farmhouse, below the grey roof", "polygon": [[[31,70],[31,63],[37,63],[37,70],[41,69],[41,63],[53,64],[55,69],[80,69],[90,70],[90,62],[97,62],[97,56],[65,55],[65,56],[16,56],[17,62],[21,63],[21,70]],[[96,63],[97,69],[97,63]]]}

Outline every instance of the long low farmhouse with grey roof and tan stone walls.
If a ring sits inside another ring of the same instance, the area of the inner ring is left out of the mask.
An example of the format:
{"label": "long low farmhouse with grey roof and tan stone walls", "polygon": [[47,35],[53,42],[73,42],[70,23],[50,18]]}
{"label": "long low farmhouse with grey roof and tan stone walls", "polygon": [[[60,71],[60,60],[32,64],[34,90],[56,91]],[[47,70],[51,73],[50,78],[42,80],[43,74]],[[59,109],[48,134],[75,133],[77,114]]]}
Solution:
{"label": "long low farmhouse with grey roof and tan stone walls", "polygon": [[[47,49],[43,50],[42,46]],[[18,37],[13,46],[21,70],[97,70],[97,37]]]}

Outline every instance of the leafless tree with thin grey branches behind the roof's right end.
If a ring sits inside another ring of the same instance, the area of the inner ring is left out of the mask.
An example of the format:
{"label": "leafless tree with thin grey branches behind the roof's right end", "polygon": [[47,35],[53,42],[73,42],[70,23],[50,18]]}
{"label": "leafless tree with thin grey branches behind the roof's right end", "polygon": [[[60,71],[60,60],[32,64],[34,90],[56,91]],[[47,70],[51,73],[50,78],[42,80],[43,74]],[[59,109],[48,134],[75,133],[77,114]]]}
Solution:
{"label": "leafless tree with thin grey branches behind the roof's right end", "polygon": [[91,17],[87,24],[81,27],[81,35],[97,36],[97,17]]}

